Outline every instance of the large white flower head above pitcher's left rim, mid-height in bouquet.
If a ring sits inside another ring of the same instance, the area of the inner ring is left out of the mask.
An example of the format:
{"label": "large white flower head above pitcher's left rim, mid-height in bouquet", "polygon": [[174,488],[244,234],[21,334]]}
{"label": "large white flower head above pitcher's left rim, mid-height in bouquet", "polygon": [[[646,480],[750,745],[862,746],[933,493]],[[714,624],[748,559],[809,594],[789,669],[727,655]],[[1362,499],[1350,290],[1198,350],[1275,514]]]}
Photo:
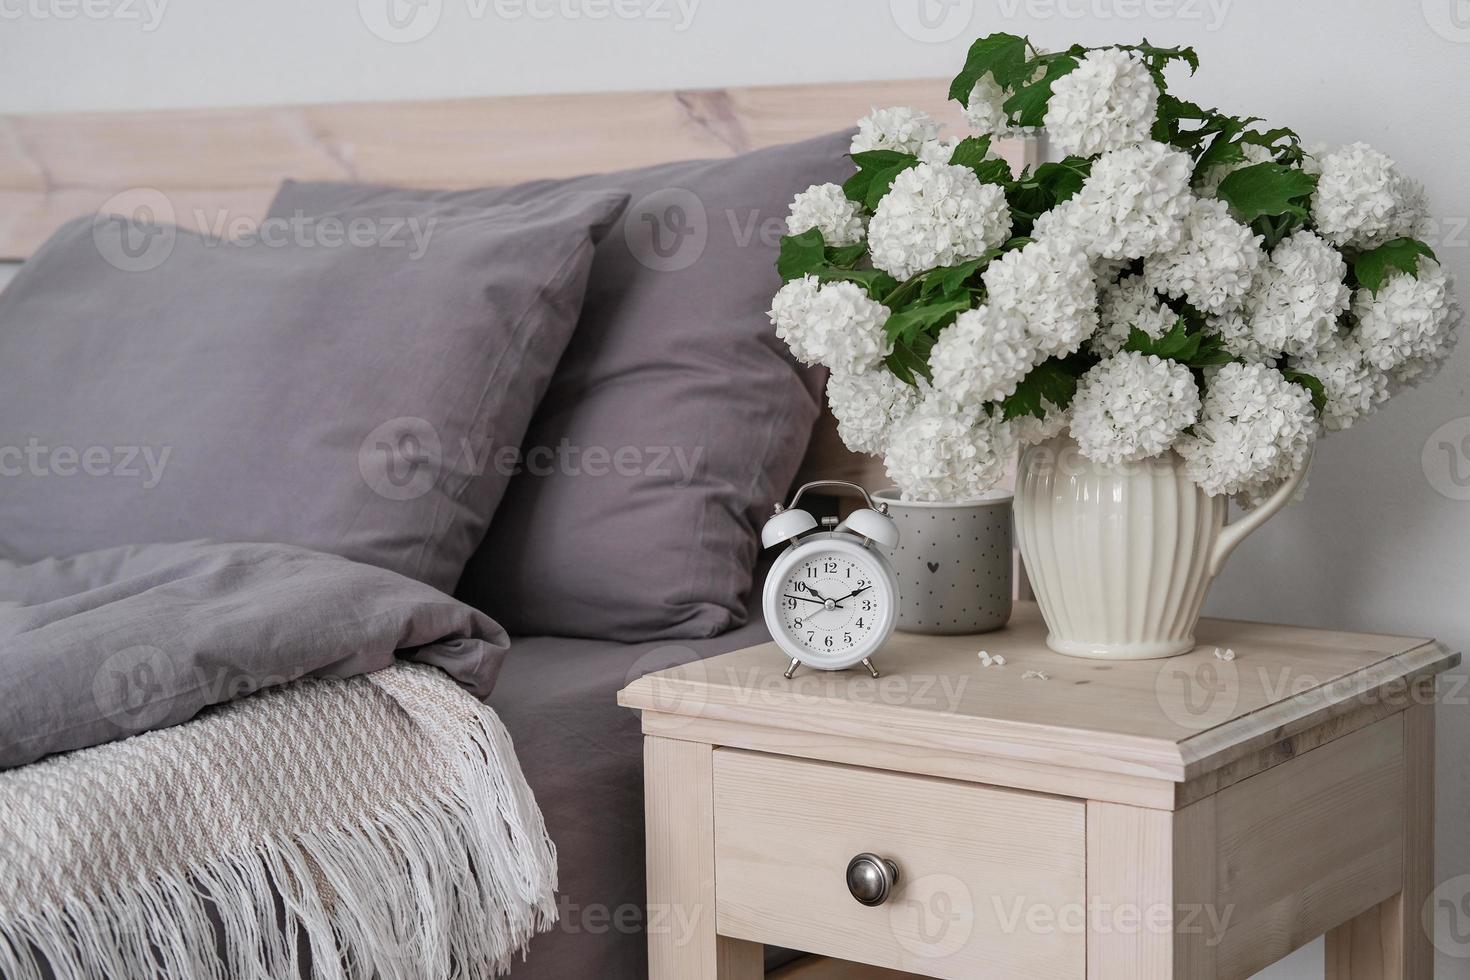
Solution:
{"label": "large white flower head above pitcher's left rim, mid-height in bouquet", "polygon": [[1070,354],[1098,329],[1098,289],[1086,253],[1038,238],[991,262],[980,276],[991,307],[1020,314],[1036,361]]}

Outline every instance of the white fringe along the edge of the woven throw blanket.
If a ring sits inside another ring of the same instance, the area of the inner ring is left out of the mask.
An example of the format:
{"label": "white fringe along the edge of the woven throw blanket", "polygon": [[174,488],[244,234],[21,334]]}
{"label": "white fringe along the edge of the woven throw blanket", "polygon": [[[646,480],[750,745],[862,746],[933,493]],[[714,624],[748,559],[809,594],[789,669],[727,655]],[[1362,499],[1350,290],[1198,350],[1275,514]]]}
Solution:
{"label": "white fringe along the edge of the woven throw blanket", "polygon": [[475,723],[454,727],[457,745],[437,733],[457,777],[434,801],[0,917],[0,977],[479,980],[507,971],[556,923],[556,849],[500,718],[478,702],[470,714]]}

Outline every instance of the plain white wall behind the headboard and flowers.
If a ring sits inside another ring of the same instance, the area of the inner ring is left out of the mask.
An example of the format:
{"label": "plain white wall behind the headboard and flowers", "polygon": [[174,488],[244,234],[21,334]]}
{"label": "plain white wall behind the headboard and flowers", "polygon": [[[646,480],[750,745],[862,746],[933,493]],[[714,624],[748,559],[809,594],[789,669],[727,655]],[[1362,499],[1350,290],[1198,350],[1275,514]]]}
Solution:
{"label": "plain white wall behind the headboard and flowers", "polygon": [[[84,1],[109,16],[54,16]],[[1470,284],[1460,0],[419,0],[415,25],[438,13],[419,41],[365,26],[404,1],[0,0],[0,112],[938,76],[988,31],[1051,47],[1148,35],[1200,50],[1200,76],[1176,84],[1188,97],[1395,156],[1427,184],[1446,219],[1433,244]],[[914,26],[920,3],[932,31]],[[1470,646],[1467,375],[1461,353],[1326,442],[1307,502],[1245,544],[1213,610]],[[1470,873],[1463,695],[1439,724],[1444,880]],[[1320,959],[1319,945],[1272,976],[1319,977]],[[1438,976],[1470,976],[1470,959],[1442,956]]]}

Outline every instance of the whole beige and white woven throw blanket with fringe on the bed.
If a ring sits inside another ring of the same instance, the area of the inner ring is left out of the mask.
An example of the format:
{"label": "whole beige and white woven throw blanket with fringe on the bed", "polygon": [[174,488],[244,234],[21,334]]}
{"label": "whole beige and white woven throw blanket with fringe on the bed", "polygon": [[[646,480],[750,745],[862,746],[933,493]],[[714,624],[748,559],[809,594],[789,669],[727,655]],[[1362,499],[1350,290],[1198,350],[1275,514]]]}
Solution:
{"label": "whole beige and white woven throw blanket with fringe on the bed", "polygon": [[0,771],[12,980],[492,977],[554,890],[504,727],[432,667]]}

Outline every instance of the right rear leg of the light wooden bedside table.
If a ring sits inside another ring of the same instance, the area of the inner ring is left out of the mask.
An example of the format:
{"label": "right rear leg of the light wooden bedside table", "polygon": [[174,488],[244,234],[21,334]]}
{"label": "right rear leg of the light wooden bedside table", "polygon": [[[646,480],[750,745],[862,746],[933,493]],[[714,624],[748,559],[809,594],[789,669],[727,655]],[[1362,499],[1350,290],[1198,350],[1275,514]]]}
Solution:
{"label": "right rear leg of the light wooden bedside table", "polygon": [[1327,933],[1327,980],[1430,980],[1423,927],[1435,874],[1435,707],[1404,713],[1404,890]]}

